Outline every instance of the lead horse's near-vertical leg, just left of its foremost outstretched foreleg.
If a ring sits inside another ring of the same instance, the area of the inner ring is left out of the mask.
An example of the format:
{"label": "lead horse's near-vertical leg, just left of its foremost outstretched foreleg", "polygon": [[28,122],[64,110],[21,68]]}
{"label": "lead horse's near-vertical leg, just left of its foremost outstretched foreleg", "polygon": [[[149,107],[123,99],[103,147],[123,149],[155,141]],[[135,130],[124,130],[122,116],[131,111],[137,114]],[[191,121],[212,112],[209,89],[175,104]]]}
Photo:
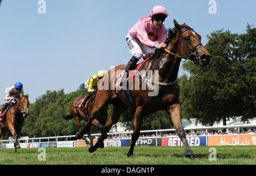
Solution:
{"label": "lead horse's near-vertical leg, just left of its foremost outstretched foreleg", "polygon": [[133,135],[131,136],[131,147],[129,152],[127,153],[128,157],[133,156],[134,146],[140,134],[142,119],[143,119],[143,106],[138,106],[134,115],[134,130],[133,130]]}

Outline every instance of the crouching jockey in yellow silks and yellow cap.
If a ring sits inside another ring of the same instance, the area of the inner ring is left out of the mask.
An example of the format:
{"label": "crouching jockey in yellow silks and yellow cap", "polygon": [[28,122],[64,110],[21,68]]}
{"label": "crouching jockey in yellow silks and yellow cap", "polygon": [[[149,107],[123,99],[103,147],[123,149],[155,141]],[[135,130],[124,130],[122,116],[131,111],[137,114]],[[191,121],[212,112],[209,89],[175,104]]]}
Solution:
{"label": "crouching jockey in yellow silks and yellow cap", "polygon": [[85,108],[85,102],[89,100],[90,97],[96,94],[98,81],[101,78],[103,78],[105,74],[106,74],[106,71],[100,70],[97,72],[96,75],[92,75],[88,80],[86,80],[84,87],[89,94],[88,96],[86,96],[84,101],[82,101],[81,108]]}

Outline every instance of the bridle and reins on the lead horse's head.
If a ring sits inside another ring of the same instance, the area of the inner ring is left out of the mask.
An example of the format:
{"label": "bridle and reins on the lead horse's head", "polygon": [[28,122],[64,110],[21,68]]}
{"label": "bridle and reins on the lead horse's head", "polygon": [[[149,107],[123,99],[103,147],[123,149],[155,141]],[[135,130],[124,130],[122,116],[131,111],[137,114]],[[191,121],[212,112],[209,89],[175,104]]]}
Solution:
{"label": "bridle and reins on the lead horse's head", "polygon": [[[164,48],[164,51],[166,51],[168,54],[174,55],[175,57],[177,57],[177,58],[179,58],[179,59],[184,58],[184,59],[189,59],[189,60],[191,60],[192,62],[199,63],[198,50],[199,50],[200,46],[203,45],[203,44],[199,43],[199,44],[197,44],[196,46],[194,46],[194,48],[192,49],[192,51],[189,51],[189,49],[188,49],[187,46],[184,44],[184,41],[183,41],[183,39],[182,39],[182,37],[181,37],[181,35],[182,35],[183,32],[189,31],[189,30],[193,30],[193,29],[192,29],[192,28],[187,28],[187,29],[185,29],[184,31],[179,32],[179,34],[178,34],[178,35],[179,35],[179,38],[180,38],[181,46],[182,46],[182,48],[185,50],[185,52],[187,53],[188,56],[183,56],[183,55],[180,55],[180,54],[172,53],[172,51],[168,50],[167,48]],[[197,48],[197,46],[199,46],[199,47]],[[196,48],[197,48],[197,50],[196,50]],[[195,50],[196,50],[196,53],[194,53]],[[180,49],[179,49],[179,52],[180,52]]]}

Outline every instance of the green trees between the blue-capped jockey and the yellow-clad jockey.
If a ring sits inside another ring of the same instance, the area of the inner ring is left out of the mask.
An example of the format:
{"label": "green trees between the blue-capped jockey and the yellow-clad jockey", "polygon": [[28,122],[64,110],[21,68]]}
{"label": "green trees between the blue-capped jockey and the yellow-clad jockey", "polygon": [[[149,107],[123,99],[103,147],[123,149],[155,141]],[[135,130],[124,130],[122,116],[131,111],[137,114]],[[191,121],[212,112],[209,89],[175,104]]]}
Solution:
{"label": "green trees between the blue-capped jockey and the yellow-clad jockey", "polygon": [[[30,114],[22,128],[23,135],[44,137],[71,135],[77,132],[75,121],[65,121],[63,114],[69,113],[69,105],[77,96],[86,95],[83,88],[68,94],[64,90],[47,91],[30,106]],[[85,125],[82,122],[82,125]]]}

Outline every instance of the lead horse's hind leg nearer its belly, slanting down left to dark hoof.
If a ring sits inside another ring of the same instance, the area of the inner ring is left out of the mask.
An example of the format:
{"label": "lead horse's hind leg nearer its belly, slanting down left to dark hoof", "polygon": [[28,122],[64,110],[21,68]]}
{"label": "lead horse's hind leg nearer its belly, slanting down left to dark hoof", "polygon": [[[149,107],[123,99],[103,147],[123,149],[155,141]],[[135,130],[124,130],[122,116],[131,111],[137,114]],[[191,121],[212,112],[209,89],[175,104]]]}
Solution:
{"label": "lead horse's hind leg nearer its belly, slanting down left to dark hoof", "polygon": [[[126,110],[126,105],[123,104],[121,100],[114,100],[113,102],[113,112],[108,121],[106,122],[106,125],[104,126],[102,132],[101,132],[101,137],[98,139],[97,143],[95,146],[89,148],[89,152],[92,153],[96,151],[97,148],[104,147],[104,139],[107,138],[107,132],[110,130],[112,125],[118,122],[120,115],[123,113],[123,111]],[[102,146],[103,145],[103,146]]]}

